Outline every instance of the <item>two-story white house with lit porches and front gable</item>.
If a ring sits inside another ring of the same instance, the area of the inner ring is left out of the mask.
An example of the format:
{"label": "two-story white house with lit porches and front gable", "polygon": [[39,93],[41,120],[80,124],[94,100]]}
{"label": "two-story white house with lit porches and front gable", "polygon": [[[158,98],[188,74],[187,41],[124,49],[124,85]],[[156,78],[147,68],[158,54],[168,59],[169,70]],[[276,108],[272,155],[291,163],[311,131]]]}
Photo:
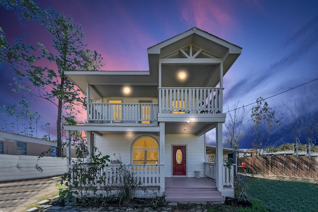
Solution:
{"label": "two-story white house with lit porches and front gable", "polygon": [[[193,201],[168,197],[167,185],[194,177],[212,178],[222,196],[234,196],[223,165],[223,76],[240,54],[239,46],[192,28],[148,48],[150,71],[65,71],[86,93],[87,123],[64,130],[86,131],[91,152],[96,146],[113,160],[114,153],[120,156],[142,179],[147,175],[144,186],[158,186],[168,201]],[[214,128],[212,164],[205,134]]]}

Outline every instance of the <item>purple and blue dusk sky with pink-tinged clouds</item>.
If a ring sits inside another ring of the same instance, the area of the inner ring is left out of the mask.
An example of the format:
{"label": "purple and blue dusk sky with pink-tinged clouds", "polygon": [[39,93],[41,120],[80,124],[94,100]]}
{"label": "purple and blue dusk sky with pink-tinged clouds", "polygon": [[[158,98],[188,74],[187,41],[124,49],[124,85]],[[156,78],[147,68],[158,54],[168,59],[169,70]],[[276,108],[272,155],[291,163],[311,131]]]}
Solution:
{"label": "purple and blue dusk sky with pink-tinged clouds", "polygon": [[[147,48],[192,27],[241,47],[241,55],[224,77],[224,111],[234,109],[237,101],[248,105],[241,148],[250,147],[251,103],[260,96],[271,97],[314,80],[266,101],[285,118],[289,115],[284,105],[293,107],[294,103],[303,111],[310,108],[318,114],[314,93],[318,91],[317,0],[41,0],[38,4],[52,7],[81,25],[88,49],[103,57],[101,70],[148,71]],[[8,40],[27,33],[26,39],[32,43],[52,44],[41,26],[19,23],[14,11],[2,7],[0,27]],[[10,71],[0,71],[0,105],[17,102],[19,95],[8,85],[12,83]],[[42,115],[42,125],[51,123],[54,137],[55,106],[35,101],[32,110]],[[9,119],[1,117],[2,130]],[[38,127],[38,137],[48,134],[46,131]],[[293,141],[279,134],[271,142]],[[208,143],[215,143],[213,131],[208,133]]]}

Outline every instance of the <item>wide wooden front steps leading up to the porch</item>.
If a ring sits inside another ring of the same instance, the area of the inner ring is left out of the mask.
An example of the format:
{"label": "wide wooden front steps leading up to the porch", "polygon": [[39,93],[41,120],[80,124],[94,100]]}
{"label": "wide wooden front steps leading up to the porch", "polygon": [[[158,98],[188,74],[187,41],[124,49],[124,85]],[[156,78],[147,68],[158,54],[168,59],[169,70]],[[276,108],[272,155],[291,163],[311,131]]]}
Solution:
{"label": "wide wooden front steps leading up to the porch", "polygon": [[225,197],[216,188],[165,188],[167,202],[215,202],[224,203]]}

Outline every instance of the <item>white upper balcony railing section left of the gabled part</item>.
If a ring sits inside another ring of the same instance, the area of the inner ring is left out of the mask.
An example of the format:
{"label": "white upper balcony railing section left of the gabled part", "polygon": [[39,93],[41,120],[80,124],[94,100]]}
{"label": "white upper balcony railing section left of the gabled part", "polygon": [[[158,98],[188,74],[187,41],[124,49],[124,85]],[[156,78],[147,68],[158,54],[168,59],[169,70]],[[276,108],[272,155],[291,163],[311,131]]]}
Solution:
{"label": "white upper balcony railing section left of the gabled part", "polygon": [[142,123],[158,121],[158,104],[88,103],[89,123]]}

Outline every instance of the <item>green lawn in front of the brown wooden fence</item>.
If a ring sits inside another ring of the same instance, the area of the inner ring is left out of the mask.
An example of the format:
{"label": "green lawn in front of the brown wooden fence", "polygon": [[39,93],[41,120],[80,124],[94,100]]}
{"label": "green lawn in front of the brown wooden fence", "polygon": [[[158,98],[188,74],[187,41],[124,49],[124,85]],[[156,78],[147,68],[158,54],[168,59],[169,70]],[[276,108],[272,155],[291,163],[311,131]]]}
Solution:
{"label": "green lawn in front of the brown wooden fence", "polygon": [[318,184],[306,181],[264,179],[245,180],[249,199],[255,199],[273,212],[318,212]]}

